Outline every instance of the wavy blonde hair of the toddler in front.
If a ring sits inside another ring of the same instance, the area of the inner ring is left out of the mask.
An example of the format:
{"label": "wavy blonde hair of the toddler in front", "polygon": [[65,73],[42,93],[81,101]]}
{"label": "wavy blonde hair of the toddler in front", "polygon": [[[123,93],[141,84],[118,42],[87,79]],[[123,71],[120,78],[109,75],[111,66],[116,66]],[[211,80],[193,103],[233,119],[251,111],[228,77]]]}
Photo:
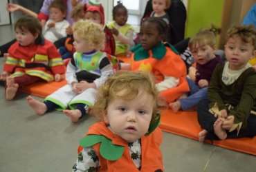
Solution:
{"label": "wavy blonde hair of the toddler in front", "polygon": [[151,123],[155,122],[160,118],[157,108],[158,92],[153,76],[146,72],[117,72],[115,75],[107,78],[104,85],[98,90],[98,96],[90,114],[103,120],[107,114],[107,107],[111,100],[115,98],[133,100],[141,91],[143,91],[143,94],[147,93],[153,97]]}

